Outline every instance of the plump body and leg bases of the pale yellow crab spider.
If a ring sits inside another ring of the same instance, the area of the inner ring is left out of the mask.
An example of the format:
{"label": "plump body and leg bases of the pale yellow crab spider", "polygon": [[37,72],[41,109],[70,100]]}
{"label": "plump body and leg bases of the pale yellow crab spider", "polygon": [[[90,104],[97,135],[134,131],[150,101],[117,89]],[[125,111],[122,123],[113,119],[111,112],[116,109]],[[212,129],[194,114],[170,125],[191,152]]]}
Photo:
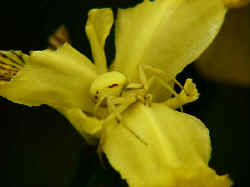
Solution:
{"label": "plump body and leg bases of the pale yellow crab spider", "polygon": [[125,75],[112,71],[100,75],[91,84],[90,94],[92,100],[96,103],[95,114],[101,106],[107,106],[109,113],[112,113],[116,105],[130,102],[131,98],[136,98],[144,104],[151,104],[152,97],[146,93],[148,85],[145,74],[140,67],[138,69],[141,83],[128,83]]}

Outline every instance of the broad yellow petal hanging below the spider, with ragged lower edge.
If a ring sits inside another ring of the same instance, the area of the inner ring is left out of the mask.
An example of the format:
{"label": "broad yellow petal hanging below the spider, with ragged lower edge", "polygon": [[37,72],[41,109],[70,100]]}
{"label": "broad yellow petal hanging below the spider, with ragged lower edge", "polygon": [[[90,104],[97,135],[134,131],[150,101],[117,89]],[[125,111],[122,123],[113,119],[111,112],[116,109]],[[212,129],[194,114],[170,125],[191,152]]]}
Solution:
{"label": "broad yellow petal hanging below the spider, with ragged lower edge", "polygon": [[107,127],[103,150],[130,187],[231,185],[227,176],[216,175],[207,165],[211,147],[203,123],[163,104],[129,108],[121,124]]}

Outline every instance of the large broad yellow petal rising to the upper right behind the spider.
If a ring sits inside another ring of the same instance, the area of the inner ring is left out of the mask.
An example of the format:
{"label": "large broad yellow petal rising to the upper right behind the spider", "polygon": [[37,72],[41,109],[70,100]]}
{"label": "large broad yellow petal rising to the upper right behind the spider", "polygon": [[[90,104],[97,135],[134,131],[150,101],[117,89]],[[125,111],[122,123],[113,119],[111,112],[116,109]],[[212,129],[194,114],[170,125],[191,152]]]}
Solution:
{"label": "large broad yellow petal rising to the upper right behind the spider", "polygon": [[134,80],[137,65],[148,64],[174,78],[212,42],[225,13],[221,0],[145,0],[120,9],[112,68]]}

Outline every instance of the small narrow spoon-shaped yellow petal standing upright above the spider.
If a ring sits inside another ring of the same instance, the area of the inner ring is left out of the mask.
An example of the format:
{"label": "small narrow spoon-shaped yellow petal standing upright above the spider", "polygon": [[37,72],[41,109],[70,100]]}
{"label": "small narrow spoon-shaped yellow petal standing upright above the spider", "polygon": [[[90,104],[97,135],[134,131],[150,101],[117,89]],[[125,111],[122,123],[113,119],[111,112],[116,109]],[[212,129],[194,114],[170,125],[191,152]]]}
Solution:
{"label": "small narrow spoon-shaped yellow petal standing upright above the spider", "polygon": [[110,8],[91,9],[89,11],[85,30],[89,38],[97,71],[100,74],[107,72],[104,46],[112,25],[113,12]]}

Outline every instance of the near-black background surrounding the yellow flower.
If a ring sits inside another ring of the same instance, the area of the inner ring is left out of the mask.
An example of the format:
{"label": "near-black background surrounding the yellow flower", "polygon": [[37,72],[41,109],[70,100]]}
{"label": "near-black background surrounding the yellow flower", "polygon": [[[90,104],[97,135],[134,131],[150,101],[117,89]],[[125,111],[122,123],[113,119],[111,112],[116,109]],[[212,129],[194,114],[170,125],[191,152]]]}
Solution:
{"label": "near-black background surrounding the yellow flower", "polygon": [[[88,10],[96,7],[116,10],[135,2],[140,1],[6,1],[0,11],[0,49],[26,52],[45,49],[48,36],[65,24],[72,45],[91,58],[84,33]],[[106,46],[109,62],[115,52],[112,37],[111,34]],[[219,174],[229,173],[235,187],[248,186],[250,89],[206,81],[192,65],[178,79],[183,81],[187,77],[197,83],[201,96],[184,110],[210,129],[213,144],[210,166]],[[29,108],[0,98],[0,115],[0,186],[126,186],[110,166],[101,167],[95,148],[87,146],[55,110],[47,106]]]}

